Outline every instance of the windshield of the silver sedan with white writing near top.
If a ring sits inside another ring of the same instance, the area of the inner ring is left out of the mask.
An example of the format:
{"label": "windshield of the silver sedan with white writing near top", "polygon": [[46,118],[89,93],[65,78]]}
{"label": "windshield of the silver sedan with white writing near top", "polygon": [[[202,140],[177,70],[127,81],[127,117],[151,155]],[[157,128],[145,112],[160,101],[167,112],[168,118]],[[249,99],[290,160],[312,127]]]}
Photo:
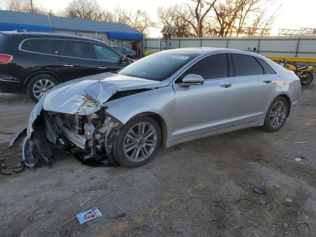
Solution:
{"label": "windshield of the silver sedan with white writing near top", "polygon": [[162,81],[183,65],[197,57],[198,53],[163,51],[146,56],[118,72],[120,75]]}

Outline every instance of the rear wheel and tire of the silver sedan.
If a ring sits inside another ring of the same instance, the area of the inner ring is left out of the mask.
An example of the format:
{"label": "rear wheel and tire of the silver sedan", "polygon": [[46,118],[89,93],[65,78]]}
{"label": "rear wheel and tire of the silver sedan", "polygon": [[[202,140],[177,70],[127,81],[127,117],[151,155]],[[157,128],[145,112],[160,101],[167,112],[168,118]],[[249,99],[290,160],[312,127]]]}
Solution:
{"label": "rear wheel and tire of the silver sedan", "polygon": [[288,115],[288,104],[282,96],[276,97],[271,103],[263,129],[268,132],[276,132],[284,125]]}

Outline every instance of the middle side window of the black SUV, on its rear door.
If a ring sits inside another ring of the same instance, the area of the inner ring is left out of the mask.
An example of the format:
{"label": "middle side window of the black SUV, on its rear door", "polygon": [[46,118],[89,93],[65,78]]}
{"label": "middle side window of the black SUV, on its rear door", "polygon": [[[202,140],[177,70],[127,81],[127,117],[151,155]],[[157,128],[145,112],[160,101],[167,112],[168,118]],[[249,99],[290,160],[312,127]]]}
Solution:
{"label": "middle side window of the black SUV, on its rear door", "polygon": [[93,51],[89,42],[68,40],[69,57],[93,59]]}

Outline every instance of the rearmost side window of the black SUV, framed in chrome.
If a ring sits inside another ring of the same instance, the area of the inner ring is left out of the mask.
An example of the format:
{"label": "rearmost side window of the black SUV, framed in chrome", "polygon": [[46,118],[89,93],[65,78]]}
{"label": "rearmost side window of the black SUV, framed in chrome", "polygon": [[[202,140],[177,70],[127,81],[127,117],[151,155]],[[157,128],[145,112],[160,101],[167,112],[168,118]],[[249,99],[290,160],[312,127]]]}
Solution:
{"label": "rearmost side window of the black SUV, framed in chrome", "polygon": [[21,49],[35,53],[59,55],[62,42],[62,40],[30,39],[23,42]]}

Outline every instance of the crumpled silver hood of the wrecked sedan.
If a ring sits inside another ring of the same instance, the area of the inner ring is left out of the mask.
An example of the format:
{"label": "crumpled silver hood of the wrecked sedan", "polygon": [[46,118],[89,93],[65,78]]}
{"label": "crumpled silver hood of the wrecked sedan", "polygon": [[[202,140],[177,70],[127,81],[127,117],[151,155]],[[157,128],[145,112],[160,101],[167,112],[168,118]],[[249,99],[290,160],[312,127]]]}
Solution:
{"label": "crumpled silver hood of the wrecked sedan", "polygon": [[117,91],[159,87],[160,81],[103,73],[70,80],[45,94],[43,108],[67,114],[89,115]]}

